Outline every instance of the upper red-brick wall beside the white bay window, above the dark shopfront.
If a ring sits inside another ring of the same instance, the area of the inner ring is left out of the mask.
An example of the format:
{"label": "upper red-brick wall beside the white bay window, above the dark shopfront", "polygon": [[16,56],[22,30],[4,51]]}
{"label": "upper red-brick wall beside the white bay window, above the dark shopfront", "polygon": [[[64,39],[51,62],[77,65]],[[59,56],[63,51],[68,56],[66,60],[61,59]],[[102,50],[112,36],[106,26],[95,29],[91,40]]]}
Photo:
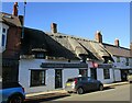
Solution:
{"label": "upper red-brick wall beside the white bay window, above the dark shopfront", "polygon": [[10,26],[7,34],[6,50],[2,54],[3,58],[19,58],[21,43],[21,28],[16,26]]}

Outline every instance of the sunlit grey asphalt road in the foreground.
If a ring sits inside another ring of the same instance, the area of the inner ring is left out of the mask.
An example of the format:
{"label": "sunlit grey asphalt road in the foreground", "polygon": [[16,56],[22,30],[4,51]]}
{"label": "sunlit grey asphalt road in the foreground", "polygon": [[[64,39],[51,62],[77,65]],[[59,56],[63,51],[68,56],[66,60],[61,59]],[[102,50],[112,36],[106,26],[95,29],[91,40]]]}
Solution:
{"label": "sunlit grey asphalt road in the foreground", "polygon": [[[131,91],[132,91],[132,84],[131,84]],[[51,99],[41,98],[35,101],[34,100],[26,101],[25,103],[45,103],[45,102],[70,103],[72,101],[76,101],[76,102],[84,101],[85,103],[89,103],[90,101],[95,101],[95,102],[101,101],[100,103],[102,103],[102,101],[105,101],[105,103],[106,101],[108,101],[108,103],[110,101],[118,101],[119,103],[130,103],[130,102],[125,102],[125,101],[130,101],[130,98],[131,98],[130,84],[123,84],[123,85],[116,85],[116,87],[107,88],[103,91],[92,91],[92,92],[88,92],[88,93],[80,94],[80,95],[76,93],[72,93],[69,95],[56,96],[56,98],[51,98]],[[114,102],[110,102],[110,103],[114,103]]]}

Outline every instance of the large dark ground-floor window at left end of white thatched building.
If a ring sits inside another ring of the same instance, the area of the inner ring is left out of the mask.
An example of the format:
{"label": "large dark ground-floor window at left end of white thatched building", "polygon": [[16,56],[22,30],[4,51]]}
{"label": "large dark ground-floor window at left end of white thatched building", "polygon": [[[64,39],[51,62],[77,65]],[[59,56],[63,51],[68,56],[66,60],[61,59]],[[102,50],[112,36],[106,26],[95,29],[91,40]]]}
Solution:
{"label": "large dark ground-floor window at left end of white thatched building", "polygon": [[45,70],[31,70],[31,87],[45,85]]}

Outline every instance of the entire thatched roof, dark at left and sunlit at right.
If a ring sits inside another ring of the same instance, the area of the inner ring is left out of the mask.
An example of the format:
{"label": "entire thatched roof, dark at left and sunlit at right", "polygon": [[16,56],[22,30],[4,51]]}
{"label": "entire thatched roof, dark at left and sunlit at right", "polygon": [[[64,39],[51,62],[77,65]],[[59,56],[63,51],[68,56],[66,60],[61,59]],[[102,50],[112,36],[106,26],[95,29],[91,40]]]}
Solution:
{"label": "entire thatched roof, dark at left and sunlit at right", "polygon": [[86,56],[95,60],[103,61],[103,57],[112,60],[111,55],[98,42],[25,27],[22,53],[32,54],[33,50],[46,52],[47,56],[66,59],[80,59],[81,56]]}

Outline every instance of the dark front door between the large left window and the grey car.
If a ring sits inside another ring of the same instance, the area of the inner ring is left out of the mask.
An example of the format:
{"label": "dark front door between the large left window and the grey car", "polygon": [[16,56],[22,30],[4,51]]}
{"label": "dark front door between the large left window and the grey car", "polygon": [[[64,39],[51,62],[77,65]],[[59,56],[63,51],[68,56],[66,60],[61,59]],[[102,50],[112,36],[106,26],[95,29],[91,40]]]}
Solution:
{"label": "dark front door between the large left window and the grey car", "polygon": [[62,69],[55,69],[55,89],[63,88]]}

